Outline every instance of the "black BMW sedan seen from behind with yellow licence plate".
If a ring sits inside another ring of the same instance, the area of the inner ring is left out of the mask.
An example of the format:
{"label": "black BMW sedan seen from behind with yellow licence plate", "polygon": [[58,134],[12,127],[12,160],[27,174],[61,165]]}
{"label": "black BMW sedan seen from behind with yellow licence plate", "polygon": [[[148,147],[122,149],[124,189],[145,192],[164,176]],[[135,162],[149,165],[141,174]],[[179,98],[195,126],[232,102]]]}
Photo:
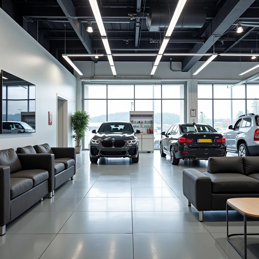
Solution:
{"label": "black BMW sedan seen from behind with yellow licence plate", "polygon": [[207,124],[175,124],[161,135],[160,155],[170,155],[173,165],[180,159],[226,156],[226,139]]}

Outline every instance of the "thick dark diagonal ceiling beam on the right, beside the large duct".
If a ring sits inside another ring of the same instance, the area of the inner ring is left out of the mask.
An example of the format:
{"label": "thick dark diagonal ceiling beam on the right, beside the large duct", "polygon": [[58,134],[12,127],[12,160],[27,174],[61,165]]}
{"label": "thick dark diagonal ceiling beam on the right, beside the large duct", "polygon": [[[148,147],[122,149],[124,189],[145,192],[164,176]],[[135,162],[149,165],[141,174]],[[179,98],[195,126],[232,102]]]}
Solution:
{"label": "thick dark diagonal ceiling beam on the right, beside the large duct", "polygon": [[[202,37],[207,40],[204,44],[195,44],[191,53],[206,53],[253,2],[254,0],[227,0],[203,33]],[[215,37],[213,38],[212,35],[215,35]],[[182,62],[182,72],[188,72],[199,59],[199,56],[186,57]]]}

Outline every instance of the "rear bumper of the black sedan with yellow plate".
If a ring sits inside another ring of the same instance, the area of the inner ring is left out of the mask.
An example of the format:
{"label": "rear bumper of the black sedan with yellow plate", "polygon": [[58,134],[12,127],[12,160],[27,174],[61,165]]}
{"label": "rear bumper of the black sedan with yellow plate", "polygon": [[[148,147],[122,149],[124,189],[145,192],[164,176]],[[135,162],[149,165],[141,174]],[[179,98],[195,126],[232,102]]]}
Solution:
{"label": "rear bumper of the black sedan with yellow plate", "polygon": [[222,156],[226,156],[226,145],[222,145],[220,148],[186,148],[180,146],[179,151],[175,152],[177,159],[189,159],[192,157],[202,159]]}

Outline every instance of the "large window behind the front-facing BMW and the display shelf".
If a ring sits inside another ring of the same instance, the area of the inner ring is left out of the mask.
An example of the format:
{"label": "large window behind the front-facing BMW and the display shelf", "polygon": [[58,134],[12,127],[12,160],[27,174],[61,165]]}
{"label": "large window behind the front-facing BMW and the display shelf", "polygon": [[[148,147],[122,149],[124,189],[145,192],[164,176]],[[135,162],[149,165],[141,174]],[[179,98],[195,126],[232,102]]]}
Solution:
{"label": "large window behind the front-facing BMW and the display shelf", "polygon": [[184,123],[185,84],[89,85],[83,84],[83,107],[90,116],[84,149],[104,121],[129,121],[130,111],[154,111],[154,147],[161,132],[174,123]]}

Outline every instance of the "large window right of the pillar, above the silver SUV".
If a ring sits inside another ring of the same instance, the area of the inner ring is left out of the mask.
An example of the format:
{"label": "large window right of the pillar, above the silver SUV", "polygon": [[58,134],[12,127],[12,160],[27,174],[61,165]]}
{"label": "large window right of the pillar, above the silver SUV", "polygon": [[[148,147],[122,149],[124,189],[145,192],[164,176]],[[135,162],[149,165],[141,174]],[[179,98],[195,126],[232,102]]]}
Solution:
{"label": "large window right of the pillar, above the silver SUV", "polygon": [[245,113],[259,113],[259,85],[198,84],[198,122],[222,131]]}

